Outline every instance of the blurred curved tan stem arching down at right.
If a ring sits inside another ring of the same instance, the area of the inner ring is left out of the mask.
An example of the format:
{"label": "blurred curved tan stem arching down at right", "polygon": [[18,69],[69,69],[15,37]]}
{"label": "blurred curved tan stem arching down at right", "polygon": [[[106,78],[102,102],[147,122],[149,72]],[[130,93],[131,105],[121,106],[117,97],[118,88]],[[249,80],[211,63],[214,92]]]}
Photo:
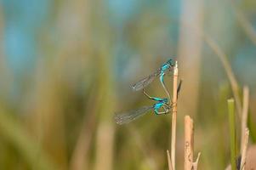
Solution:
{"label": "blurred curved tan stem arching down at right", "polygon": [[213,39],[211,37],[209,37],[205,33],[203,34],[203,37],[205,39],[205,42],[208,43],[208,46],[213,49],[213,52],[215,54],[217,54],[217,56],[219,57],[222,65],[225,68],[225,72],[226,72],[226,74],[227,74],[227,76],[230,80],[231,89],[232,89],[232,92],[234,94],[234,98],[236,100],[236,110],[238,112],[238,115],[240,116],[242,114],[242,104],[241,104],[241,99],[239,97],[239,86],[238,86],[238,83],[236,81],[236,77],[234,75],[234,72],[232,71],[232,68],[231,68],[231,66],[229,64],[229,61],[227,59],[227,56],[221,50],[221,48],[219,48],[218,44],[213,41]]}

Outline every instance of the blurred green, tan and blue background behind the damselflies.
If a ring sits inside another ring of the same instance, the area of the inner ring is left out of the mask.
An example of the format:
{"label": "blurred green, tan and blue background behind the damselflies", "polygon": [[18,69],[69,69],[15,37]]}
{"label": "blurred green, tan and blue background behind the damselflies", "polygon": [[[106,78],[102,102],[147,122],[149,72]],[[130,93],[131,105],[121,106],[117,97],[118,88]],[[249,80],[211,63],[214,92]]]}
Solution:
{"label": "blurred green, tan and blue background behind the damselflies", "polygon": [[[130,87],[169,58],[184,80],[177,169],[185,115],[194,119],[199,169],[230,162],[226,100],[234,93],[222,53],[241,101],[250,88],[256,141],[253,0],[2,0],[0,37],[0,169],[167,169],[171,115],[124,126],[113,115],[152,105]],[[164,95],[159,81],[146,90]]]}

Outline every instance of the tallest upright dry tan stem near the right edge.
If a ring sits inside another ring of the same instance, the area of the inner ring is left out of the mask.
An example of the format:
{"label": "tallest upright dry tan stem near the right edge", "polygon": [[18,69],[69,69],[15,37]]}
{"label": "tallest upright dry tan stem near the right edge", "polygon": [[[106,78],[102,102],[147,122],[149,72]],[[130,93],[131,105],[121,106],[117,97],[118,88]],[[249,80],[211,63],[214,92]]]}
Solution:
{"label": "tallest upright dry tan stem near the right edge", "polygon": [[243,88],[243,101],[242,101],[242,126],[241,126],[241,153],[242,153],[242,142],[244,139],[244,129],[247,127],[247,116],[248,116],[248,107],[249,107],[249,88],[246,86]]}

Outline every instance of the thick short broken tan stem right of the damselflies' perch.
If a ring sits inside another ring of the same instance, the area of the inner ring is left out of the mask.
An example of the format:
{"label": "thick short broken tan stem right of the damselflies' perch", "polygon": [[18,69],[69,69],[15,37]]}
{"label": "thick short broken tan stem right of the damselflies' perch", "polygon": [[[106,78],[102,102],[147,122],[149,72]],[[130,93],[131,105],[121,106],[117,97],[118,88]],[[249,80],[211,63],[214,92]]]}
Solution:
{"label": "thick short broken tan stem right of the damselflies' perch", "polygon": [[190,116],[185,116],[185,144],[184,144],[184,169],[191,170],[193,167],[194,132],[193,120]]}

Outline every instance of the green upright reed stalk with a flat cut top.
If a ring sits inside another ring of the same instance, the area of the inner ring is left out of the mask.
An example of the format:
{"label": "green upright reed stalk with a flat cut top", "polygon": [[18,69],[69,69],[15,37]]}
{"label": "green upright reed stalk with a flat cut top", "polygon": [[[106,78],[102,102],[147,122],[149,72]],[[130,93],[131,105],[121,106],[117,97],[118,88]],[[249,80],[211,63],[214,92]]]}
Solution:
{"label": "green upright reed stalk with a flat cut top", "polygon": [[234,99],[228,99],[229,124],[230,124],[230,156],[231,169],[236,170],[236,117]]}

